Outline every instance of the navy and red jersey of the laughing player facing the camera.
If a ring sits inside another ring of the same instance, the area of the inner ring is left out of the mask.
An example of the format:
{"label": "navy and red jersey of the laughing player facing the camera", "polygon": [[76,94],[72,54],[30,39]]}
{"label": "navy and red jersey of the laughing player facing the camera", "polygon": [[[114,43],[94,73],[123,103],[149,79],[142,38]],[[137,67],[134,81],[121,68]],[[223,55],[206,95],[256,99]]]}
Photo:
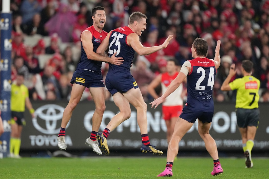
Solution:
{"label": "navy and red jersey of the laughing player facing the camera", "polygon": [[[92,34],[92,44],[93,44],[93,51],[96,52],[96,49],[99,47],[101,42],[105,39],[107,32],[103,31],[99,33],[95,30],[94,26],[90,26],[85,29],[85,31],[90,31]],[[77,64],[77,70],[89,70],[92,72],[96,72],[101,74],[101,61],[95,61],[87,58],[86,52],[83,49],[82,42],[81,42],[81,59]]]}

